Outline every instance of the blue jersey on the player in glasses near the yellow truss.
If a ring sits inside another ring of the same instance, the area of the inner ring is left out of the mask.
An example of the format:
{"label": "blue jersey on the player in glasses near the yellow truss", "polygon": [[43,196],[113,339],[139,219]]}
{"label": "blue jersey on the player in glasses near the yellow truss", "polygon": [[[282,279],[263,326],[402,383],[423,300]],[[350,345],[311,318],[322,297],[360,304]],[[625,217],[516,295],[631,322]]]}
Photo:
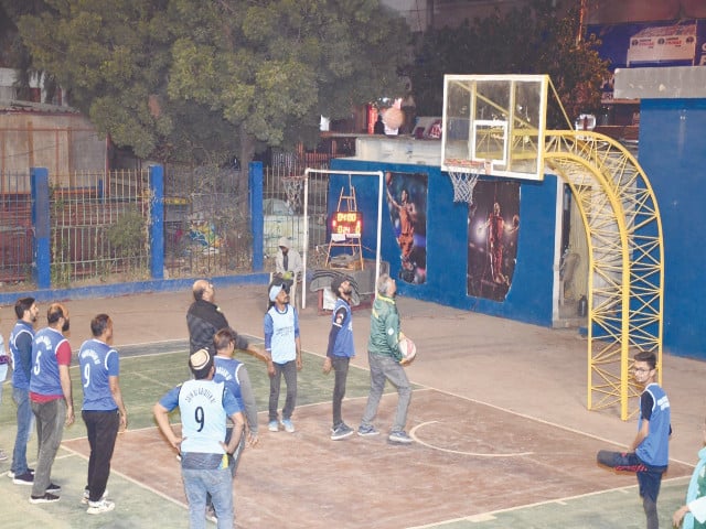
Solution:
{"label": "blue jersey on the player in glasses near the yellow truss", "polygon": [[656,384],[650,384],[644,388],[644,392],[652,397],[652,399],[646,399],[652,400],[652,406],[644,409],[644,403],[641,402],[638,430],[642,428],[642,421],[648,420],[650,421],[650,431],[635,450],[635,454],[646,465],[666,466],[670,461],[670,432],[672,430],[670,399],[664,389]]}

